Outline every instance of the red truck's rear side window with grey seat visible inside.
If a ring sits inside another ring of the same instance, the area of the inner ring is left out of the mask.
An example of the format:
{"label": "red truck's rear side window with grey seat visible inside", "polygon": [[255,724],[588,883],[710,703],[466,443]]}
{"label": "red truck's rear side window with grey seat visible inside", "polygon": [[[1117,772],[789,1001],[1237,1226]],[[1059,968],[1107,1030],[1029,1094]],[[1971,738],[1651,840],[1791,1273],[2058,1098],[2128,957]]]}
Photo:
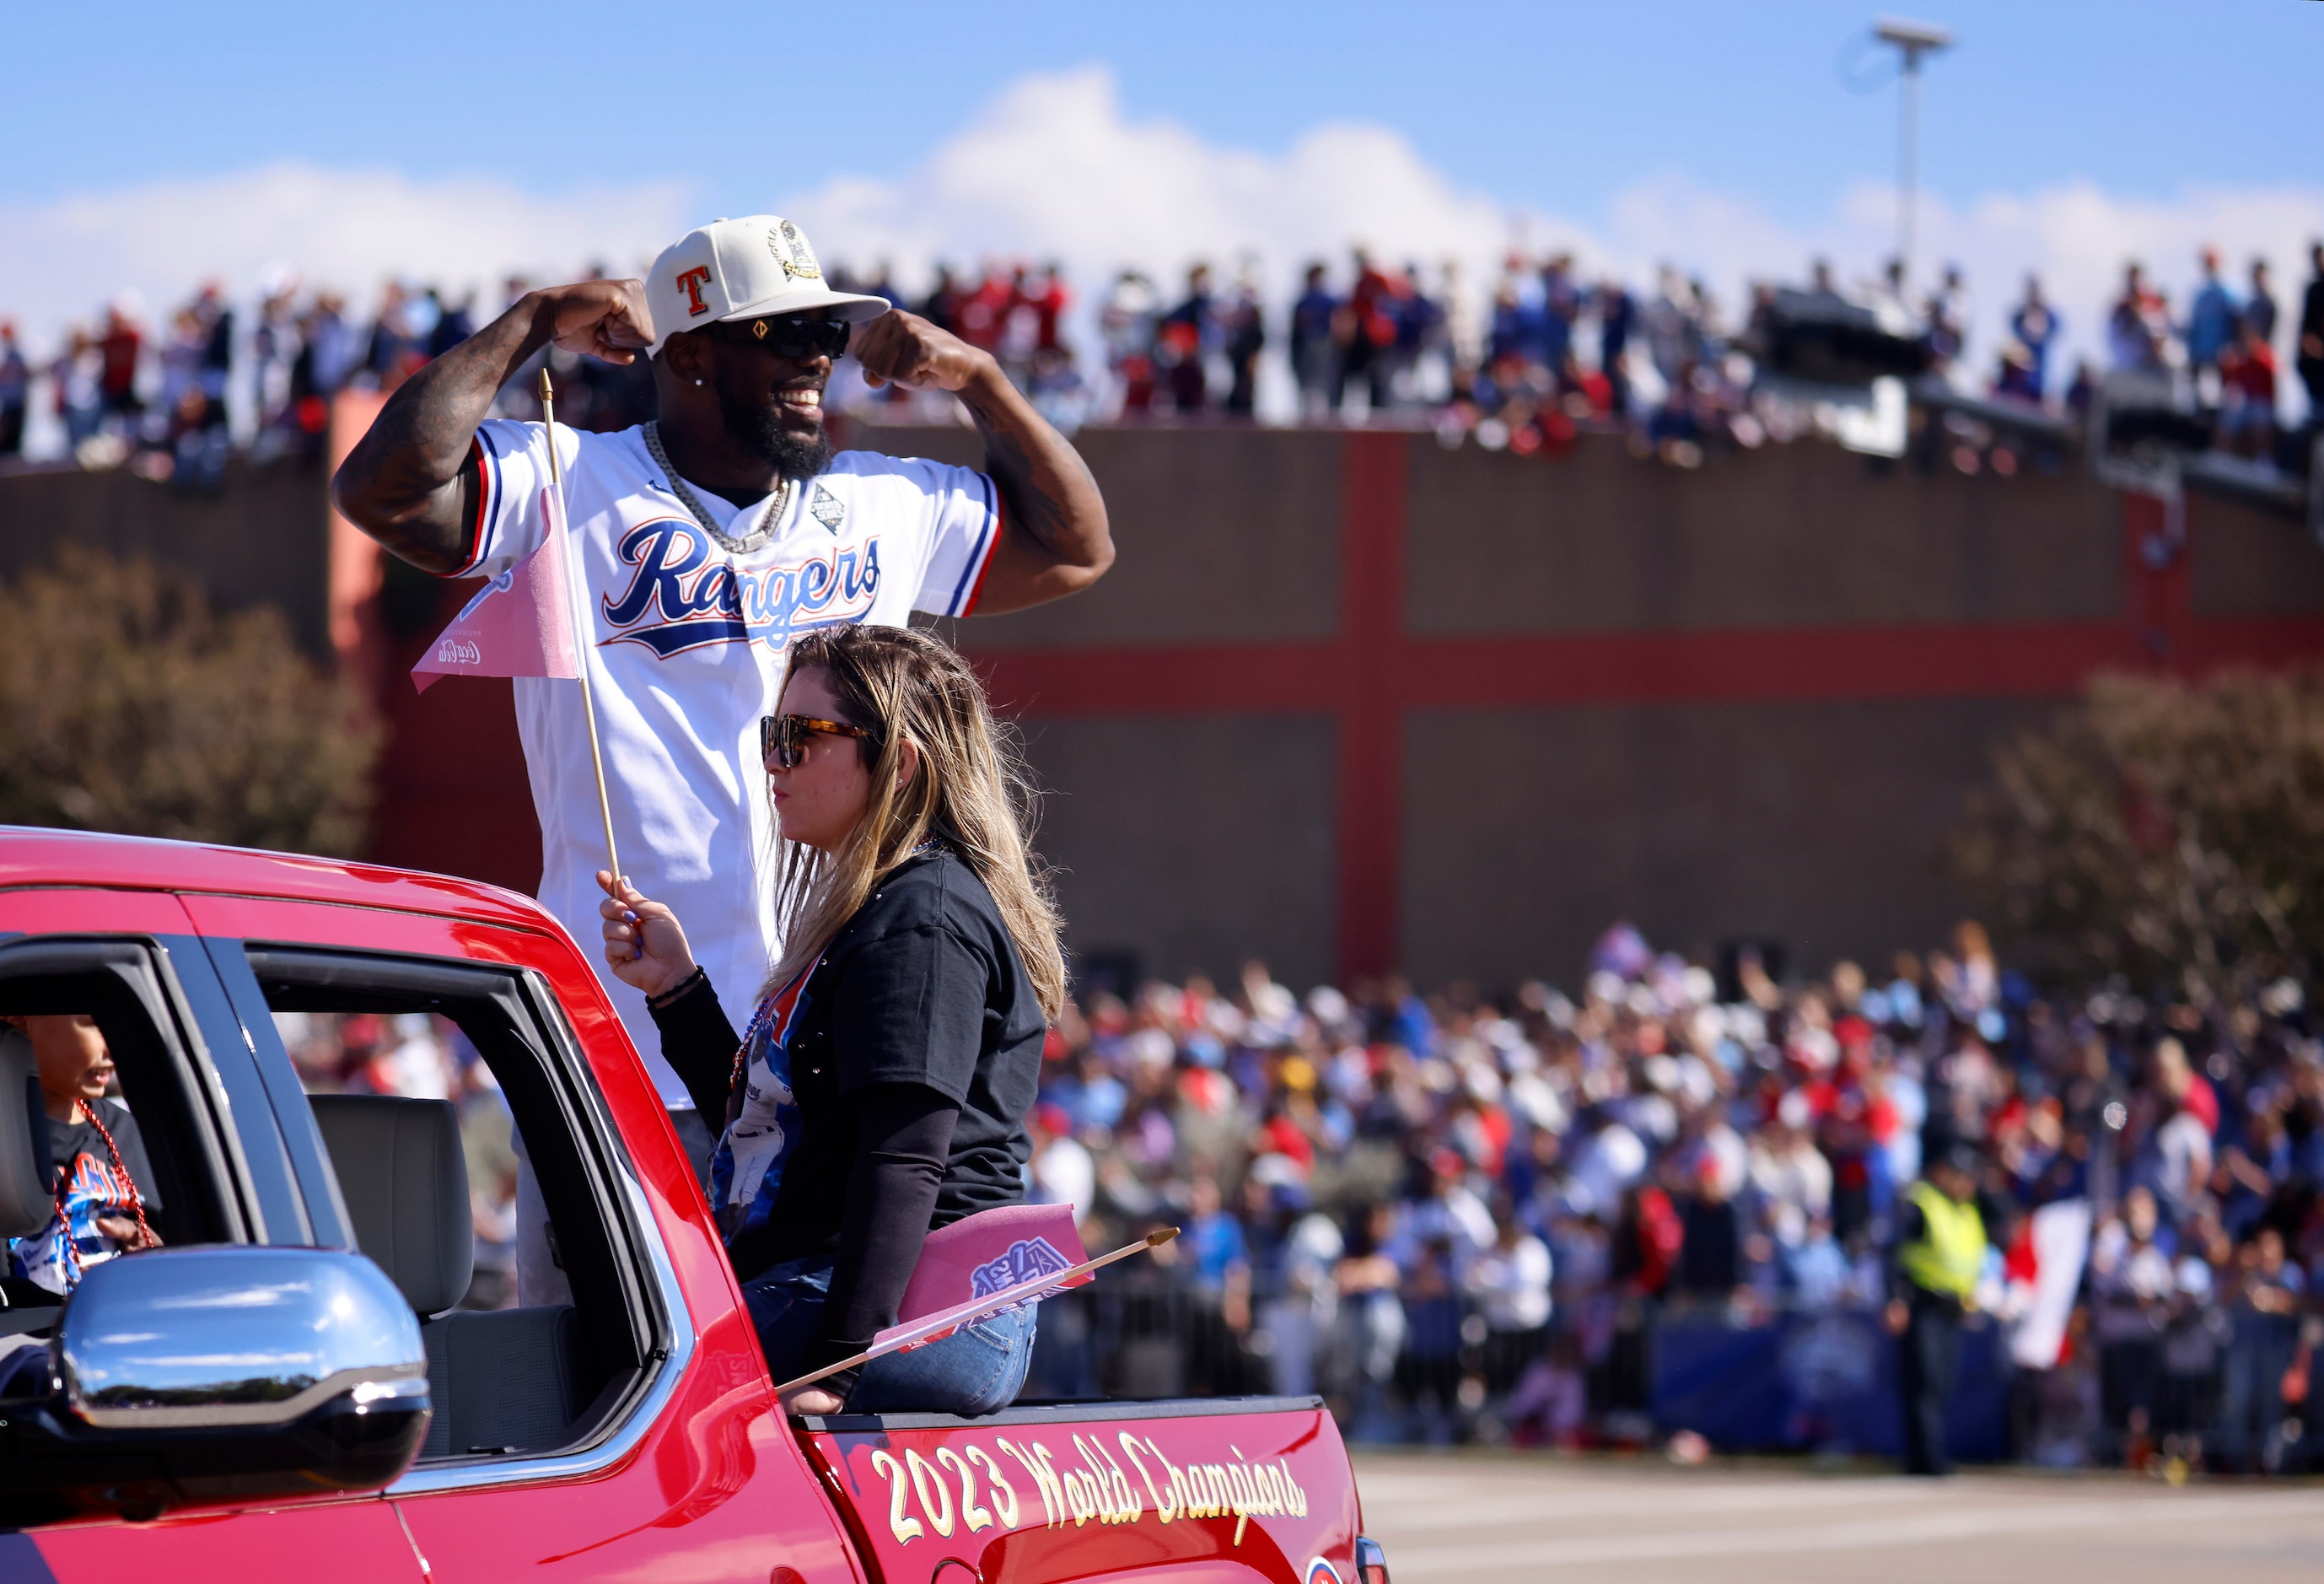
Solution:
{"label": "red truck's rear side window with grey seat visible inside", "polygon": [[[581,1447],[658,1349],[618,1137],[555,1000],[476,963],[251,947],[358,1247],[421,1319],[437,1405],[421,1461]],[[518,1282],[518,1177],[546,1228]],[[530,1198],[530,1193],[528,1193]]]}

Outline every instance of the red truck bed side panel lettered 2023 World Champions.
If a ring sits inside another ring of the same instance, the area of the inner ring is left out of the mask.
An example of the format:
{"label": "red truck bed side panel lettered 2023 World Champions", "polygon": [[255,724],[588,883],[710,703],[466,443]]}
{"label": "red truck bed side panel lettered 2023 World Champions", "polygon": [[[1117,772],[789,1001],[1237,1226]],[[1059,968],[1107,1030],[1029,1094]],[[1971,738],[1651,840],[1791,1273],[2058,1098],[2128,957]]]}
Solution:
{"label": "red truck bed side panel lettered 2023 World Champions", "polygon": [[885,1584],[1164,1565],[1171,1579],[1355,1579],[1355,1482],[1322,1398],[813,1414],[797,1428]]}

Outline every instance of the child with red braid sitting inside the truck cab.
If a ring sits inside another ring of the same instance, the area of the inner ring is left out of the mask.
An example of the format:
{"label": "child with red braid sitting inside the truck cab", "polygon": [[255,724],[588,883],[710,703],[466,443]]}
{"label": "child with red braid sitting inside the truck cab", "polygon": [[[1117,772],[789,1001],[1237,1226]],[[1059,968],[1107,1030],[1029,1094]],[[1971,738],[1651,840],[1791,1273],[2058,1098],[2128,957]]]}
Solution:
{"label": "child with red braid sitting inside the truck cab", "polygon": [[56,1214],[33,1237],[9,1237],[7,1275],[70,1293],[98,1261],[160,1247],[146,1212],[160,1210],[137,1119],[105,1091],[114,1054],[86,1014],[12,1016],[33,1042],[40,1098],[49,1112]]}

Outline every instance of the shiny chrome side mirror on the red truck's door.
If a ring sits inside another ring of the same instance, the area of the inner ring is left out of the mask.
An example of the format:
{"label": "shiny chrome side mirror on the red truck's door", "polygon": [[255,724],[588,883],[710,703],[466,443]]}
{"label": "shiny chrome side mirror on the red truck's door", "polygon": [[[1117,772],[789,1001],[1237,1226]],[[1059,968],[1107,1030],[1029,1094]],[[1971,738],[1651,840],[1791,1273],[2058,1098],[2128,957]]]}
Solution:
{"label": "shiny chrome side mirror on the red truck's door", "polygon": [[0,1405],[0,1524],[376,1491],[428,1433],[428,1354],[335,1249],[123,1254],[74,1289],[51,1391]]}

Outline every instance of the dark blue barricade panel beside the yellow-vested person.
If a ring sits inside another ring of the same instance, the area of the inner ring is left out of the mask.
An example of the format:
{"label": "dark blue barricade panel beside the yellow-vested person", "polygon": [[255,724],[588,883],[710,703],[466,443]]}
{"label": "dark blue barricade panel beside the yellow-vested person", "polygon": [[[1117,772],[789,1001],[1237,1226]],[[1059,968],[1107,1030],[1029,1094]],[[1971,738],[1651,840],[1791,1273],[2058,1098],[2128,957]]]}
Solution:
{"label": "dark blue barricade panel beside the yellow-vested person", "polygon": [[[1659,1430],[1694,1430],[1720,1451],[1848,1451],[1903,1444],[1896,1337],[1873,1310],[1776,1314],[1741,1326],[1720,1314],[1664,1314],[1652,1344]],[[1945,1440],[1952,1456],[2008,1456],[2010,1361],[2001,1330],[1961,1328]]]}

